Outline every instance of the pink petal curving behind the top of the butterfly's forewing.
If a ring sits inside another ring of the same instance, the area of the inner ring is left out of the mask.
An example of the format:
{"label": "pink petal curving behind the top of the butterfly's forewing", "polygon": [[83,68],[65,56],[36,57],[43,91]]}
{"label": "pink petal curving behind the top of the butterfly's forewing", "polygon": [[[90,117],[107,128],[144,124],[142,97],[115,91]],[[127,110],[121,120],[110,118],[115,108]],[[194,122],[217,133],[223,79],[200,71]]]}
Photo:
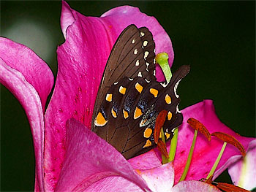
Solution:
{"label": "pink petal curving behind the top of the butterfly's forewing", "polygon": [[[129,17],[129,19],[128,19]],[[104,21],[105,28],[108,28],[111,34],[113,34],[110,41],[112,44],[116,41],[118,34],[123,31],[124,26],[135,24],[137,27],[146,26],[153,34],[154,41],[156,43],[156,53],[165,52],[169,55],[169,64],[173,64],[173,47],[170,37],[165,32],[165,29],[159,25],[158,21],[154,17],[148,17],[148,15],[141,13],[138,7],[122,6],[110,9],[101,16]],[[117,26],[112,28],[111,26]],[[156,76],[158,81],[165,81],[165,77],[162,74],[160,67],[157,65]]]}

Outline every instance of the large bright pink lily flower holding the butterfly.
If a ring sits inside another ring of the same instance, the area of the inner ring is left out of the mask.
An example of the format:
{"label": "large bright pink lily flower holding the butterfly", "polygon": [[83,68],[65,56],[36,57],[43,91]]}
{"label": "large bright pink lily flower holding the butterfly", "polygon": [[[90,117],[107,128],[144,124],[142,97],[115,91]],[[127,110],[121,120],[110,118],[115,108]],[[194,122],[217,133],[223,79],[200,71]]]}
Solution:
{"label": "large bright pink lily flower holding the butterfly", "polygon": [[[178,183],[189,149],[187,141],[193,135],[186,123],[191,117],[200,120],[210,132],[222,131],[236,137],[247,150],[246,159],[255,156],[255,139],[238,136],[221,123],[209,100],[182,110],[184,123],[173,163],[162,165],[157,150],[127,161],[89,130],[108,55],[118,35],[129,24],[146,26],[156,42],[156,53],[167,53],[170,65],[173,63],[170,38],[155,18],[138,8],[117,7],[94,18],[81,15],[62,2],[61,30],[65,42],[57,49],[58,74],[46,110],[45,103],[54,82],[48,65],[28,47],[0,39],[0,82],[20,101],[31,126],[36,159],[34,191],[182,191],[182,188],[219,191],[196,181],[206,177],[213,157],[222,146],[214,139],[208,143],[203,137],[198,138],[187,179]],[[159,68],[157,80],[164,80]],[[246,164],[252,166],[249,160]],[[239,151],[227,146],[214,177],[229,166],[242,169],[241,161]],[[230,171],[230,174],[239,180],[238,172]],[[251,180],[255,172],[241,175]]]}

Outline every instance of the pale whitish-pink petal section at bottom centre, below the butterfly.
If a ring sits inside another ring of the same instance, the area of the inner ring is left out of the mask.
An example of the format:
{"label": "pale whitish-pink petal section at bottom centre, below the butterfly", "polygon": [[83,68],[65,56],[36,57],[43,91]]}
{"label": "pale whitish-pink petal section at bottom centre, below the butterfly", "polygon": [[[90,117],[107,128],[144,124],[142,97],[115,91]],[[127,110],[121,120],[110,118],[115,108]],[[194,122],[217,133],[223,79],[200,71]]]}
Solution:
{"label": "pale whitish-pink petal section at bottom centre, below the butterfly", "polygon": [[164,164],[154,169],[138,170],[148,187],[155,192],[169,192],[174,183],[173,164]]}

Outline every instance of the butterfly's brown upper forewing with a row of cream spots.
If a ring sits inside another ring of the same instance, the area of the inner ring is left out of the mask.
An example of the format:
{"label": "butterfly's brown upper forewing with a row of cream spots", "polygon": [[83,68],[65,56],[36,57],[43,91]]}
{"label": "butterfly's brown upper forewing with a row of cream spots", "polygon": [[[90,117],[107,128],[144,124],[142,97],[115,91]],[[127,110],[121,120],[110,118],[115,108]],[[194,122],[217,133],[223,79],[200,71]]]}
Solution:
{"label": "butterfly's brown upper forewing with a row of cream spots", "polygon": [[[110,57],[102,75],[99,85],[97,99],[94,104],[94,119],[99,111],[99,106],[105,99],[106,92],[114,82],[118,82],[122,77],[143,77],[146,80],[155,80],[154,64],[154,40],[148,28],[137,28],[130,25],[122,31],[116,40]],[[91,123],[92,131],[94,124]]]}

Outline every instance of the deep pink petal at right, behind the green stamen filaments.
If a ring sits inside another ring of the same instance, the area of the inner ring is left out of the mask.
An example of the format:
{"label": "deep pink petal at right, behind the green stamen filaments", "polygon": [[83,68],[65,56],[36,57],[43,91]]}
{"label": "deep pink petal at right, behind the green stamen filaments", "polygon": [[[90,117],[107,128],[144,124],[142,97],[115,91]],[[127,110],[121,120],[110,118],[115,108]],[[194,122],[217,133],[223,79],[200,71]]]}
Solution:
{"label": "deep pink petal at right, behind the green stamen filaments", "polygon": [[[194,135],[194,130],[192,130],[187,123],[188,118],[195,118],[199,120],[204,126],[206,126],[210,133],[222,131],[236,137],[236,139],[238,139],[238,141],[244,145],[245,149],[247,149],[249,142],[253,139],[249,137],[241,137],[240,135],[236,134],[236,132],[225,126],[225,124],[222,123],[217,117],[214,110],[213,101],[211,100],[204,100],[198,104],[192,105],[191,107],[187,107],[181,112],[184,115],[184,123],[181,124],[178,131],[178,147],[176,151],[176,158],[174,159],[176,173],[175,183],[178,182],[183,172]],[[189,167],[186,180],[200,180],[201,178],[206,178],[208,172],[211,170],[211,166],[213,166],[214,161],[219,154],[222,145],[223,142],[217,138],[212,137],[211,142],[208,142],[205,137],[198,134],[191,166]],[[221,161],[217,166],[217,172],[214,174],[214,178],[227,168],[228,164],[225,163],[230,157],[240,154],[241,153],[236,147],[233,147],[233,145],[227,145]],[[230,164],[231,163],[232,162],[230,162]]]}

